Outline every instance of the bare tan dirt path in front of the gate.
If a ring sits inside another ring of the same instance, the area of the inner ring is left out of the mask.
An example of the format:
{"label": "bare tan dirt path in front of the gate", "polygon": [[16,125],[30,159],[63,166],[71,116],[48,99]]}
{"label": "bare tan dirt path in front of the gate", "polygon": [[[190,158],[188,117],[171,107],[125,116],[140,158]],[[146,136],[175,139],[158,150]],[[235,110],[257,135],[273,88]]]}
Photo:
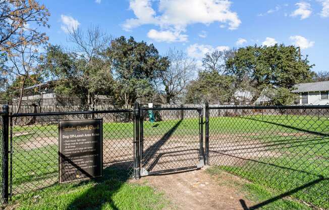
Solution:
{"label": "bare tan dirt path in front of the gate", "polygon": [[251,203],[234,184],[242,180],[225,172],[220,181],[204,170],[148,176],[140,181],[165,192],[171,201],[168,209],[243,209],[240,199],[248,206]]}

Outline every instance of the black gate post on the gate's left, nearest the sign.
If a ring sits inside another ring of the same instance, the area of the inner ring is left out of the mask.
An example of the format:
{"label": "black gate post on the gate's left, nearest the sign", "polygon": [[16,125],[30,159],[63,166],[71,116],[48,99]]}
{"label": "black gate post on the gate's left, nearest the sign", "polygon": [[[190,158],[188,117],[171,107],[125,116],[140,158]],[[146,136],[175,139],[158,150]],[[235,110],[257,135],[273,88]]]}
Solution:
{"label": "black gate post on the gate's left, nearest the sign", "polygon": [[141,110],[139,103],[134,104],[134,178],[140,178],[140,115]]}

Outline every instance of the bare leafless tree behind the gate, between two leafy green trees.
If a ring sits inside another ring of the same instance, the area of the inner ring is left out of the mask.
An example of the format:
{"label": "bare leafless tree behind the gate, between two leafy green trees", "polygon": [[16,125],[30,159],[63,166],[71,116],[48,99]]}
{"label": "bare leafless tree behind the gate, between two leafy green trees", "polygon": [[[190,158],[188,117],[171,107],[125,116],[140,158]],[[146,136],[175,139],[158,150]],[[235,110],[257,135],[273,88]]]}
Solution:
{"label": "bare leafless tree behind the gate, between two leafy green trees", "polygon": [[170,103],[174,97],[186,89],[187,83],[194,74],[196,64],[181,50],[169,49],[166,56],[170,65],[167,71],[160,72],[159,83],[165,89],[166,102]]}

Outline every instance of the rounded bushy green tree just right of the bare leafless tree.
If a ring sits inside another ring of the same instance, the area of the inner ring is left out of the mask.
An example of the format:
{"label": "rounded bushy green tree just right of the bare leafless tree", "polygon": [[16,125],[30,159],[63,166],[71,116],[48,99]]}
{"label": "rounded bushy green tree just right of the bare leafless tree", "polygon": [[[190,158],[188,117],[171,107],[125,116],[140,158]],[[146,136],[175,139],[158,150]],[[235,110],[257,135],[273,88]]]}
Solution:
{"label": "rounded bushy green tree just right of the bare leafless tree", "polygon": [[203,103],[205,101],[217,104],[230,102],[234,89],[233,76],[221,75],[212,70],[199,72],[198,78],[187,86],[186,101],[190,103]]}

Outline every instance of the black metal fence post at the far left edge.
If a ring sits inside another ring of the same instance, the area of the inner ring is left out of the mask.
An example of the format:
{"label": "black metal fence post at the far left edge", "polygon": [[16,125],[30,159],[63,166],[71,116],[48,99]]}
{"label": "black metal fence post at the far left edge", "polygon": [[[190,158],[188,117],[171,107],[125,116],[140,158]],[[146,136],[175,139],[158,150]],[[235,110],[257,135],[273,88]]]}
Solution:
{"label": "black metal fence post at the far left edge", "polygon": [[8,153],[9,153],[9,107],[8,105],[3,106],[5,115],[3,115],[3,139],[2,139],[2,201],[8,202]]}

